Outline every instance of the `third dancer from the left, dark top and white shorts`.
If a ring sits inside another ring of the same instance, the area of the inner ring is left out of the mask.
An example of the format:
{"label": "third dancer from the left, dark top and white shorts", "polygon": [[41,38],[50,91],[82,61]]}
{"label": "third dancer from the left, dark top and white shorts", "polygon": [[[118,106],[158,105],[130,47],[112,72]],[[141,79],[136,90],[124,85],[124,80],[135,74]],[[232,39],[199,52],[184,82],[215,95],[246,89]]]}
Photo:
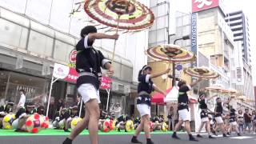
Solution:
{"label": "third dancer from the left, dark top and white shorts", "polygon": [[174,128],[174,134],[172,135],[172,138],[180,139],[177,136],[177,130],[180,126],[182,126],[182,123],[185,122],[185,128],[187,131],[187,134],[189,134],[190,141],[198,142],[197,139],[195,139],[190,130],[190,111],[188,103],[190,102],[190,99],[188,98],[188,95],[186,94],[188,91],[192,90],[191,87],[198,84],[198,82],[202,81],[201,78],[198,78],[197,81],[192,82],[190,85],[186,84],[186,81],[180,80],[178,82],[178,123],[176,124]]}

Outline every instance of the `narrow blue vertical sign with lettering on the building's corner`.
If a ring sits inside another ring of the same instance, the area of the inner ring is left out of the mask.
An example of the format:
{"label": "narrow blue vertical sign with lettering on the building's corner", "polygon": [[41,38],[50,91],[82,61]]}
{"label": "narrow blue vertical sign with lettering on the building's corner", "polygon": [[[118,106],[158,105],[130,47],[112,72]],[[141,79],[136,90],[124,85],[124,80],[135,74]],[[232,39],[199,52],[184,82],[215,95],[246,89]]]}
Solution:
{"label": "narrow blue vertical sign with lettering on the building's corner", "polygon": [[[191,51],[198,54],[198,13],[191,14]],[[194,66],[197,66],[197,62]]]}

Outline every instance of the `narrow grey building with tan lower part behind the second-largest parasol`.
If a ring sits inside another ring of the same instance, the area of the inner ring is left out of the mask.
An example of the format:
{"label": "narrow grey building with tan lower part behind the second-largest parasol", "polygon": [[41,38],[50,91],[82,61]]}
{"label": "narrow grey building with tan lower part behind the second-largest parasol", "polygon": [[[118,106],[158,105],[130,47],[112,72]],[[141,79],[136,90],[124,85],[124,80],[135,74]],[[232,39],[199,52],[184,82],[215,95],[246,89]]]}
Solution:
{"label": "narrow grey building with tan lower part behind the second-largest parasol", "polygon": [[[154,13],[154,24],[149,30],[149,47],[161,44],[168,44],[169,26],[170,26],[170,0],[150,0],[150,10]],[[153,67],[153,72],[166,70],[166,62],[154,62],[148,58],[148,64]],[[166,79],[154,78],[157,86],[162,90],[170,87],[170,83],[166,83]],[[166,114],[166,106],[151,105],[151,114]]]}

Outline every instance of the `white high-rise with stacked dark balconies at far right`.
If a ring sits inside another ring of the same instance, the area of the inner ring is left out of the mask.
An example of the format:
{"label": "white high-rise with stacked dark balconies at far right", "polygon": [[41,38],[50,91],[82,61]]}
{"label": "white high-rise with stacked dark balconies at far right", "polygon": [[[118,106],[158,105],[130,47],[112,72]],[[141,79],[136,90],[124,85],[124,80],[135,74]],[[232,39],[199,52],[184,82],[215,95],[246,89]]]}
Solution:
{"label": "white high-rise with stacked dark balconies at far right", "polygon": [[234,72],[232,85],[246,97],[254,98],[252,82],[250,29],[248,18],[242,11],[226,14],[226,22],[234,33]]}

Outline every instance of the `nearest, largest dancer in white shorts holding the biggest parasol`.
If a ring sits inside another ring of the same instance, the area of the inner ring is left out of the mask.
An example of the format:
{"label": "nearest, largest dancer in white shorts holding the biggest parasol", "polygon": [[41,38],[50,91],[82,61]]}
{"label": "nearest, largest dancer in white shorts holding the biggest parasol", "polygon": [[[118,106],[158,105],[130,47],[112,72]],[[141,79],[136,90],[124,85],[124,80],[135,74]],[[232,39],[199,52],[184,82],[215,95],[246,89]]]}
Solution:
{"label": "nearest, largest dancer in white shorts holding the biggest parasol", "polygon": [[90,142],[98,144],[98,119],[99,119],[99,86],[102,77],[102,70],[108,70],[111,76],[114,73],[110,61],[104,58],[99,50],[93,47],[96,39],[118,39],[118,34],[108,35],[97,33],[95,26],[86,26],[81,30],[82,39],[78,42],[76,50],[78,50],[76,58],[76,70],[79,78],[77,80],[78,93],[82,96],[83,102],[86,103],[86,117],[78,126],[74,128],[72,133],[63,144],[71,144],[78,134],[82,132],[88,125]]}

